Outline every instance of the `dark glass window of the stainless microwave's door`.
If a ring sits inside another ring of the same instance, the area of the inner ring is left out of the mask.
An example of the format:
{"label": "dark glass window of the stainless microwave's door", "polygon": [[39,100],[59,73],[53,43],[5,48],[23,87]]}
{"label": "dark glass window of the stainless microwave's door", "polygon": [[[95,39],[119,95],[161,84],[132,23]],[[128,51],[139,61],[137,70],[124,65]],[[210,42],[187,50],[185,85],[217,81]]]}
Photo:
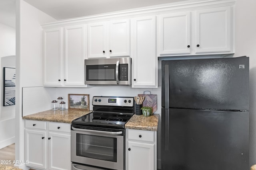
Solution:
{"label": "dark glass window of the stainless microwave's door", "polygon": [[87,65],[87,81],[116,81],[116,64]]}

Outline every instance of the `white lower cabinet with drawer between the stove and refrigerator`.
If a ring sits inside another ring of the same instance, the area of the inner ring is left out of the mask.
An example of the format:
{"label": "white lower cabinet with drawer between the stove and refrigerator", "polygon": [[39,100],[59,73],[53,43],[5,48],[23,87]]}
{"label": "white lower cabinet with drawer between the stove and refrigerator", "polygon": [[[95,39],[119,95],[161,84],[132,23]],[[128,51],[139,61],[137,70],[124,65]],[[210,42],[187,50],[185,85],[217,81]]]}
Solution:
{"label": "white lower cabinet with drawer between the stove and refrigerator", "polygon": [[126,170],[156,170],[156,131],[126,129]]}

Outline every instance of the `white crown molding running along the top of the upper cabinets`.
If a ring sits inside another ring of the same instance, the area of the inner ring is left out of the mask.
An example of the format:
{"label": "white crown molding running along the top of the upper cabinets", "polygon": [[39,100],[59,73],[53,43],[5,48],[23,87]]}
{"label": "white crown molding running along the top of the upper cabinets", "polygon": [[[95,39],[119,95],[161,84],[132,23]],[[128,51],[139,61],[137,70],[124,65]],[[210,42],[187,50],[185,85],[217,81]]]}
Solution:
{"label": "white crown molding running along the top of the upper cabinets", "polygon": [[157,6],[150,6],[144,8],[136,8],[124,11],[116,11],[110,13],[104,13],[93,16],[85,16],[80,18],[72,18],[68,20],[60,20],[52,23],[42,24],[42,28],[54,28],[62,27],[69,25],[85,24],[98,21],[107,21],[111,19],[124,19],[124,18],[134,18],[145,15],[158,15],[170,12],[178,12],[184,10],[197,10],[202,8],[209,7],[219,7],[219,6],[230,6],[234,5],[236,0],[204,0],[204,1],[195,1],[188,0],[180,3],[170,3],[170,4],[161,4]]}

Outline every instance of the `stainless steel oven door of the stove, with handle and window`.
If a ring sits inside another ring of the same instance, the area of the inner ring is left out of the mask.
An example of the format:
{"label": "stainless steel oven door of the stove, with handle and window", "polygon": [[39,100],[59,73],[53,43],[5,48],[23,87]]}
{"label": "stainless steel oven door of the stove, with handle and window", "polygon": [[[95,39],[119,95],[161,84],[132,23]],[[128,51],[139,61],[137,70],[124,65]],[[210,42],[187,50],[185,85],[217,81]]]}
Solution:
{"label": "stainless steel oven door of the stove, with handle and window", "polygon": [[124,129],[72,125],[71,161],[124,170]]}

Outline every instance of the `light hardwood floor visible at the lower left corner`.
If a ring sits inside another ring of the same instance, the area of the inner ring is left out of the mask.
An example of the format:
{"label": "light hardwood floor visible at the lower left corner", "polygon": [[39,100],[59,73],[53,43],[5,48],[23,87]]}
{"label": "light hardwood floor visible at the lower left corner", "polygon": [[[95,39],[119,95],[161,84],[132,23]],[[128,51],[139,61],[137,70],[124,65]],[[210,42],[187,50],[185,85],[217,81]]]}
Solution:
{"label": "light hardwood floor visible at the lower left corner", "polygon": [[5,148],[0,149],[0,163],[10,162],[10,164],[4,164],[6,166],[14,166],[13,161],[15,160],[15,144],[9,145]]}

